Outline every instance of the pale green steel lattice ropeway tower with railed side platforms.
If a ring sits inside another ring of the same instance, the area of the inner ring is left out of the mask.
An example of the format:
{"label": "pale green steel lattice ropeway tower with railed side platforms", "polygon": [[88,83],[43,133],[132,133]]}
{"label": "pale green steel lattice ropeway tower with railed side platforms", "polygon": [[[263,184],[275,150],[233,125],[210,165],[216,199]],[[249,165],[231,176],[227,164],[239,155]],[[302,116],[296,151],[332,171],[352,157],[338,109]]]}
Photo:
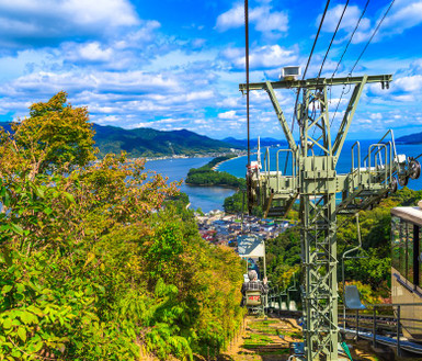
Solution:
{"label": "pale green steel lattice ropeway tower with railed side platforms", "polygon": [[[396,154],[392,132],[372,145],[364,159],[361,159],[360,143],[355,143],[351,171],[338,174],[335,170],[364,86],[378,82],[385,88],[391,78],[381,75],[249,84],[250,91],[265,90],[269,93],[289,146],[289,149],[277,151],[276,170],[270,169],[270,150],[265,153],[263,165],[259,151],[259,159],[251,162],[247,178],[251,184],[250,203],[262,205],[266,216],[283,216],[296,200],[300,201],[304,339],[306,360],[309,361],[338,360],[337,216],[354,214],[395,192],[395,174],[400,183],[419,176],[415,170],[420,167],[418,161]],[[328,106],[328,91],[334,86],[353,87],[337,134],[331,128]],[[247,84],[239,88],[243,93],[247,91]],[[288,127],[275,89],[301,90],[301,103],[295,110],[299,144]],[[282,151],[290,153],[289,174],[281,171],[278,155]]]}

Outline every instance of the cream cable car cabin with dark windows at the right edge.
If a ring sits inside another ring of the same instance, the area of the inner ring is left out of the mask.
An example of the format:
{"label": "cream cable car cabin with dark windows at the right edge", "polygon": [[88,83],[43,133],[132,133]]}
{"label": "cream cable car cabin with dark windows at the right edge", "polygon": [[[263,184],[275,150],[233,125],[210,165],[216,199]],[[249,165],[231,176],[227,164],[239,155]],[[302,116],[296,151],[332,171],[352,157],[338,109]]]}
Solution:
{"label": "cream cable car cabin with dark windows at the right edge", "polygon": [[391,297],[401,307],[403,335],[422,342],[422,202],[391,210]]}

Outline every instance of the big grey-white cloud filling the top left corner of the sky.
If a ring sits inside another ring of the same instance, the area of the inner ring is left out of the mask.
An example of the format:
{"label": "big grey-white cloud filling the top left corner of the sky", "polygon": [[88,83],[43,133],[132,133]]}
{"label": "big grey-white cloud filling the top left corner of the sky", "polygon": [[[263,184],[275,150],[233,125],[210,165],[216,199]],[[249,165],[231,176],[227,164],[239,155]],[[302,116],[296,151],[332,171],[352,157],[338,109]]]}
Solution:
{"label": "big grey-white cloud filling the top left corner of the sky", "polygon": [[0,0],[0,45],[45,46],[75,36],[104,36],[139,23],[127,0]]}

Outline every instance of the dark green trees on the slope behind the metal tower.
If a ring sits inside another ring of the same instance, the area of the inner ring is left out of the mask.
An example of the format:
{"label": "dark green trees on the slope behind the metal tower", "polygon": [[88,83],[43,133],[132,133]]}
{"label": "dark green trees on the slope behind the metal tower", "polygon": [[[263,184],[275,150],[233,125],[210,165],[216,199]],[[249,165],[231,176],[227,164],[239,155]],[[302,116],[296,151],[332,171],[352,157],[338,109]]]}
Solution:
{"label": "dark green trees on the slope behind the metal tower", "polygon": [[[379,303],[390,296],[390,208],[417,205],[421,199],[422,191],[404,188],[377,207],[360,212],[363,249],[357,252],[361,258],[345,260],[345,281],[357,284],[366,303]],[[352,216],[339,216],[338,224],[338,259],[341,260],[344,251],[357,245],[357,227]],[[294,273],[298,280],[300,262],[299,226],[266,242],[267,274],[273,284],[278,284],[282,290],[293,285]],[[338,280],[341,282],[341,263],[338,270]],[[340,293],[341,290],[340,284]],[[298,294],[297,300],[300,300]]]}

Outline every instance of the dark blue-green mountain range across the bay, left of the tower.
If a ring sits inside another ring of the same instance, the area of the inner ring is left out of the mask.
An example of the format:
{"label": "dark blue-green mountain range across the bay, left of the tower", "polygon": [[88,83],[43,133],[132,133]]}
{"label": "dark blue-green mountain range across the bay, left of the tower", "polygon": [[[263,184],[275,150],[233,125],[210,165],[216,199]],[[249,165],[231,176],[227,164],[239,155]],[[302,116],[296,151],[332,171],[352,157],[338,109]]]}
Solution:
{"label": "dark blue-green mountain range across the bay, left of the tower", "polygon": [[[0,123],[11,132],[10,123]],[[117,126],[93,124],[95,145],[100,156],[125,150],[130,157],[158,157],[224,153],[230,148],[243,148],[182,129],[161,132],[152,128],[124,129]]]}

